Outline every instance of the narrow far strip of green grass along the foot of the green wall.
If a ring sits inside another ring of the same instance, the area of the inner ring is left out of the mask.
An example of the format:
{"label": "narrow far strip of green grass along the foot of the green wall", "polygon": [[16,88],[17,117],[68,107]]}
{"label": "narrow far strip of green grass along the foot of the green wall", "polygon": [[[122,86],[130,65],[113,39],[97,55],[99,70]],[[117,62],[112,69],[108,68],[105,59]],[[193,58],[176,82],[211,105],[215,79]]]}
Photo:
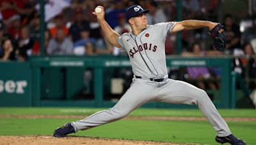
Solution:
{"label": "narrow far strip of green grass along the foot of the green wall", "polygon": [[[90,115],[108,108],[84,107],[0,107],[0,114],[43,114],[43,115]],[[223,117],[253,117],[255,109],[218,109]],[[140,108],[129,116],[175,116],[202,117],[199,109],[148,109]]]}

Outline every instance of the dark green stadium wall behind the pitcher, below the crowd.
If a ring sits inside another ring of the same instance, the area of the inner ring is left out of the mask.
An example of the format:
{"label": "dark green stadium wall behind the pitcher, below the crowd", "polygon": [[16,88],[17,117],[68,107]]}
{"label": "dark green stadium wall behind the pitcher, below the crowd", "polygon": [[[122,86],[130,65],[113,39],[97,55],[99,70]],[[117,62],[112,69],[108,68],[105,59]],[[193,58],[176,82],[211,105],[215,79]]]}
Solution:
{"label": "dark green stadium wall behind the pitcher, below the crowd", "polygon": [[[220,108],[235,107],[231,94],[232,59],[167,57],[166,65],[220,67],[221,88],[213,102]],[[0,106],[111,107],[122,96],[116,94],[116,99],[108,99],[109,93],[104,93],[110,88],[112,74],[117,75],[116,70],[122,68],[130,69],[131,64],[126,57],[113,56],[33,57],[28,62],[0,62],[0,68]],[[88,70],[92,73],[90,81],[84,80],[88,79],[84,77]],[[189,106],[150,102],[145,107]]]}

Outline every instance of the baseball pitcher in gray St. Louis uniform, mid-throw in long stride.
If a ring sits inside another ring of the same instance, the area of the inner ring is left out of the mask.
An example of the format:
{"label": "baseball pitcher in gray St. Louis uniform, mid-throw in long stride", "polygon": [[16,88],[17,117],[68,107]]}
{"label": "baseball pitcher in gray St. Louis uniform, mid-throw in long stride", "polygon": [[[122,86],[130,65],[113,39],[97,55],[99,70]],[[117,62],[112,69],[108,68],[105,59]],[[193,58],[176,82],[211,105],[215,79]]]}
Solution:
{"label": "baseball pitcher in gray St. Louis uniform, mid-throw in long stride", "polygon": [[115,106],[92,114],[83,120],[66,123],[63,127],[56,128],[53,136],[64,137],[79,130],[87,130],[120,120],[143,104],[157,101],[172,104],[195,104],[215,129],[216,142],[246,144],[231,134],[227,123],[221,118],[204,90],[184,81],[168,78],[166,69],[164,42],[168,34],[207,27],[209,34],[214,39],[216,50],[223,51],[225,32],[221,24],[201,20],[184,20],[148,25],[145,13],[148,13],[148,10],[143,10],[139,5],[129,7],[125,17],[132,32],[119,36],[104,20],[104,8],[102,6],[95,8],[93,14],[97,17],[108,40],[117,48],[124,49],[129,55],[134,78],[131,87]]}

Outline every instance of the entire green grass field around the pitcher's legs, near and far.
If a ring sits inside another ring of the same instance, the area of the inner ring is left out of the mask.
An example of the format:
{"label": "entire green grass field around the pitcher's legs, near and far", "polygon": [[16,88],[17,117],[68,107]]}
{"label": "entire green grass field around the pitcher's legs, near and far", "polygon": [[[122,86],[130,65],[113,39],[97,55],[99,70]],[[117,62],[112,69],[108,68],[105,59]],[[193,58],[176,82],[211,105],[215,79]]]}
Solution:
{"label": "entire green grass field around the pitcher's legs, near and far", "polygon": [[[84,115],[88,116],[102,108],[55,108],[55,107],[0,107],[0,135],[52,135],[54,128],[63,123],[83,118],[17,118],[3,114],[18,115]],[[253,109],[220,109],[223,117],[256,118]],[[198,109],[137,109],[129,116],[177,116],[202,117]],[[230,130],[247,144],[256,144],[256,121],[227,121]],[[74,135],[107,137],[162,142],[190,142],[217,144],[216,133],[208,121],[170,120],[119,120],[107,125],[79,131]]]}

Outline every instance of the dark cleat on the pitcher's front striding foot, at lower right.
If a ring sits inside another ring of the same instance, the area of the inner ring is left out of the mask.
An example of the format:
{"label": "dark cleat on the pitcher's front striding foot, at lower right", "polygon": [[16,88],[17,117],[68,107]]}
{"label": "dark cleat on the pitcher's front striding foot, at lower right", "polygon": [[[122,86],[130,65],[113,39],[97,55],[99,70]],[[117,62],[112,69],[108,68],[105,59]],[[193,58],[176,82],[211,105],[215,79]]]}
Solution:
{"label": "dark cleat on the pitcher's front striding foot, at lower right", "polygon": [[216,136],[215,141],[219,142],[221,144],[230,143],[232,145],[246,145],[246,143],[243,140],[235,137],[232,134],[228,135],[227,137],[218,137],[218,136]]}

